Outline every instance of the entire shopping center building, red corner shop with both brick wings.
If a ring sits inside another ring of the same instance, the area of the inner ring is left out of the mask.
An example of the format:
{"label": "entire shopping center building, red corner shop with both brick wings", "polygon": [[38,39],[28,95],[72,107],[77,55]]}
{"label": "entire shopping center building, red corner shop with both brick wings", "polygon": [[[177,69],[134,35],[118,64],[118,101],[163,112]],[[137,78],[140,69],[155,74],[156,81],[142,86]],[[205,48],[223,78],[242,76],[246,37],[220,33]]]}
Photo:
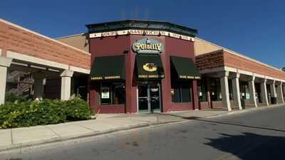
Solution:
{"label": "entire shopping center building, red corner shop with both brick wings", "polygon": [[[197,38],[195,29],[161,21],[87,27],[88,33],[53,40],[1,20],[2,74],[24,70],[33,75],[34,97],[81,95],[100,113],[230,111],[284,102],[282,70]],[[5,88],[0,92],[3,103]]]}

